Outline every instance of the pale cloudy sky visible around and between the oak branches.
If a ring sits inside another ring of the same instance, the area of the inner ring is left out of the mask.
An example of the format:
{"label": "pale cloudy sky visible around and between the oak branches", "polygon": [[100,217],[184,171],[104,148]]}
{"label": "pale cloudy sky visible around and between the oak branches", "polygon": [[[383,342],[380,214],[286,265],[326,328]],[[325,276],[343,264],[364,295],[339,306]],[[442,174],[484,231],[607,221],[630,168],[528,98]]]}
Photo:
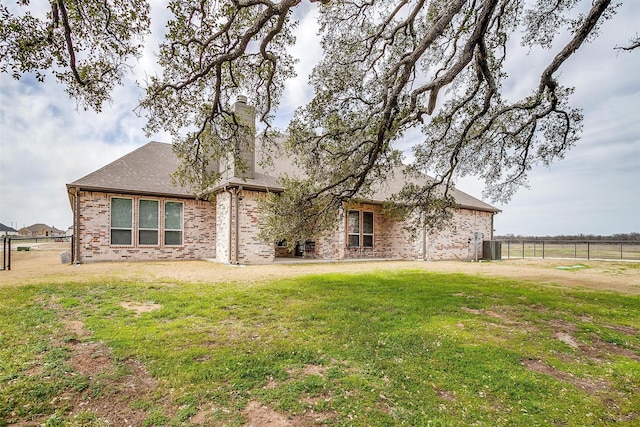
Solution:
{"label": "pale cloudy sky visible around and between the oak branches", "polygon": [[[153,0],[152,34],[164,31],[166,10]],[[304,9],[293,54],[298,77],[287,84],[276,125],[285,127],[297,106],[313,93],[307,76],[322,54],[316,39],[315,7]],[[160,19],[153,18],[160,17]],[[561,68],[560,80],[574,86],[571,104],[584,114],[581,140],[550,167],[534,166],[528,188],[509,203],[492,203],[502,212],[496,235],[612,235],[640,232],[640,49],[614,50],[637,36],[640,2],[625,0],[605,22],[600,36],[583,46]],[[0,223],[16,229],[45,223],[66,230],[72,211],[65,184],[122,157],[150,140],[170,142],[168,134],[146,136],[136,116],[143,82],[153,72],[157,44],[147,43],[124,87],[101,113],[83,111],[53,79],[14,80],[0,74]],[[549,52],[513,46],[507,70],[507,97],[535,87]],[[537,73],[537,74],[536,74]],[[401,148],[411,158],[411,138]],[[457,188],[482,198],[483,183],[464,177]]]}

